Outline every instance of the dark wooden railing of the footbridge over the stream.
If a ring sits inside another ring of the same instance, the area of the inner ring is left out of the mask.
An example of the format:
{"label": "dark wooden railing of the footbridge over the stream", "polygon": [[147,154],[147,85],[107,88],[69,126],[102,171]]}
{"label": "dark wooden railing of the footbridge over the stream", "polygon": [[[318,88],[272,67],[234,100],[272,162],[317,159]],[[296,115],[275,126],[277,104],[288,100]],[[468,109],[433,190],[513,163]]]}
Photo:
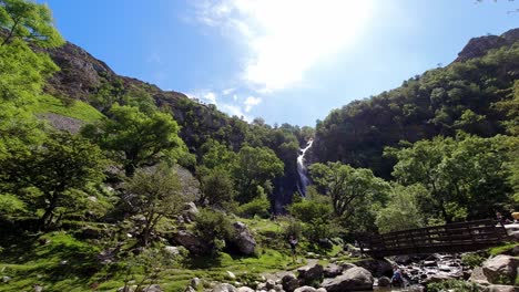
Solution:
{"label": "dark wooden railing of the footbridge over the stream", "polygon": [[363,252],[380,258],[397,254],[475,251],[508,239],[492,220],[450,223],[358,239]]}

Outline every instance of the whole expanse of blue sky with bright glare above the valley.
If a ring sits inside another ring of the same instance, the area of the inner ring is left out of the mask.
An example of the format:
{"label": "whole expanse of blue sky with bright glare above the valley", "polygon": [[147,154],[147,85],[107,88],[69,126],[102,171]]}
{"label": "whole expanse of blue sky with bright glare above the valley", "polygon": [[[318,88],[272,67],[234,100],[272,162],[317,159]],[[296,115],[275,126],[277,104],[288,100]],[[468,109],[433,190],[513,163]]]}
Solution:
{"label": "whole expanse of blue sky with bright glare above the valley", "polygon": [[472,36],[519,27],[507,0],[39,2],[118,74],[299,126],[450,63]]}

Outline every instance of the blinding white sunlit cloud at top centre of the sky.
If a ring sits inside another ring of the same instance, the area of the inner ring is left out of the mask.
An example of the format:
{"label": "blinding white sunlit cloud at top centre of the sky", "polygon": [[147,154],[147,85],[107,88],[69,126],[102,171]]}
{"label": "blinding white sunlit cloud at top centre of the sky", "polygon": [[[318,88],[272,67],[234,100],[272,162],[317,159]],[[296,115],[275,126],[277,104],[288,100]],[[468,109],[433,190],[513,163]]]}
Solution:
{"label": "blinding white sunlit cloud at top centre of the sky", "polygon": [[289,87],[322,59],[354,44],[373,0],[217,0],[196,4],[197,19],[245,41],[242,79],[260,92]]}

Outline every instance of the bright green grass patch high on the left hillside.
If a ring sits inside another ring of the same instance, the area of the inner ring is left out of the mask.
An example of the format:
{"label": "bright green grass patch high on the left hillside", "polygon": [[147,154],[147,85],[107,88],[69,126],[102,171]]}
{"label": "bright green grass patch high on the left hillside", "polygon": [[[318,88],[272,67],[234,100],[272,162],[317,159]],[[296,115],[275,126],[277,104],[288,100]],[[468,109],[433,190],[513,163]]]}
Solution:
{"label": "bright green grass patch high on the left hillside", "polygon": [[61,100],[48,94],[43,95],[37,103],[31,104],[29,107],[35,114],[53,113],[89,123],[103,117],[103,114],[84,102],[73,101],[71,105],[65,105]]}

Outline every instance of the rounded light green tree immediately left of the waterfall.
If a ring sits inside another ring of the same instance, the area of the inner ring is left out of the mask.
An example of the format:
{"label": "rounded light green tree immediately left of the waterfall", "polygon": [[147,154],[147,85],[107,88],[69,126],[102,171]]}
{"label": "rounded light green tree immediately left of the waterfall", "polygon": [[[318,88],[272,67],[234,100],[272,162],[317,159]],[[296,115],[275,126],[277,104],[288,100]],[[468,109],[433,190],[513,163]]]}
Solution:
{"label": "rounded light green tree immediately left of the waterfall", "polygon": [[260,195],[258,187],[271,192],[269,181],[283,174],[283,161],[272,149],[244,146],[232,171],[238,190],[237,200],[245,204]]}

